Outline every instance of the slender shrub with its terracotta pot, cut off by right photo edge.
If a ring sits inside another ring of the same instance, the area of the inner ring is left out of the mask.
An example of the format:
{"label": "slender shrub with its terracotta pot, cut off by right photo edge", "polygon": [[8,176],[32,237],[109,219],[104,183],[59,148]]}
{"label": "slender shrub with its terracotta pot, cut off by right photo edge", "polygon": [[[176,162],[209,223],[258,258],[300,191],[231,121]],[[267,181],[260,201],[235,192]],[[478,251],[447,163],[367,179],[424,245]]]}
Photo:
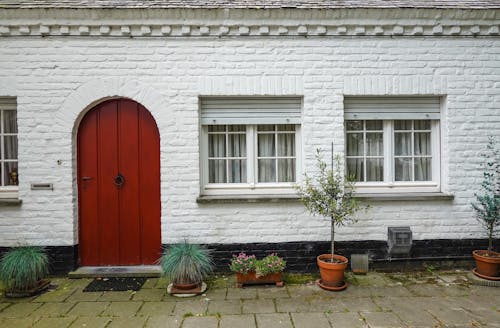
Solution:
{"label": "slender shrub with its terracotta pot, cut off by right photo edge", "polygon": [[488,235],[488,249],[472,252],[476,262],[473,272],[481,278],[500,280],[500,253],[493,251],[493,237],[500,227],[500,149],[492,137],[484,157],[486,165],[481,191],[474,194],[476,201],[472,203],[472,208]]}

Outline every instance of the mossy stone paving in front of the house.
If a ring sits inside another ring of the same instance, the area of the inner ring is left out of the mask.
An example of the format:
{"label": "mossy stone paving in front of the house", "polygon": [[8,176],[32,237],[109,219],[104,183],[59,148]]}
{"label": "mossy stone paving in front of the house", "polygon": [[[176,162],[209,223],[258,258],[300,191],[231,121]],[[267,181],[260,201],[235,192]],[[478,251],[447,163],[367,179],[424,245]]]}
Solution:
{"label": "mossy stone paving in front of the house", "polygon": [[52,278],[57,287],[39,296],[0,291],[0,327],[500,327],[500,288],[472,285],[467,272],[371,272],[348,281],[335,293],[313,282],[238,289],[230,275],[201,296],[176,298],[165,279],[137,292],[83,292],[90,279]]}

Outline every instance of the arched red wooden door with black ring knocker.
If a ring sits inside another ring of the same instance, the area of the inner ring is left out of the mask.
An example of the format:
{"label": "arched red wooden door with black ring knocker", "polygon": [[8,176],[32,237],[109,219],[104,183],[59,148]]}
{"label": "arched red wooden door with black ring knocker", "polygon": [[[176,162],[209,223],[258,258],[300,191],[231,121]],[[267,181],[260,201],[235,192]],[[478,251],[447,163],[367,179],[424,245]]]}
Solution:
{"label": "arched red wooden door with black ring knocker", "polygon": [[160,256],[160,138],[126,99],[91,109],[78,130],[80,264],[153,264]]}

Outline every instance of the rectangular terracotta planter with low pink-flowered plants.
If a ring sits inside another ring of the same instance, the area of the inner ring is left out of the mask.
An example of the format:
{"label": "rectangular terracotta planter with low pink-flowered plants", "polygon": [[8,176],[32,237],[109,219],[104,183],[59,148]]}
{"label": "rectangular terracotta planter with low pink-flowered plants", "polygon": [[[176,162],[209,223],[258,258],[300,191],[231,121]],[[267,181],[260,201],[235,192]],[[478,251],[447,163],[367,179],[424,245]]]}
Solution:
{"label": "rectangular terracotta planter with low pink-flowered plants", "polygon": [[257,260],[255,255],[240,253],[233,255],[231,271],[236,272],[237,286],[253,284],[276,284],[283,287],[283,271],[286,261],[276,253],[272,253],[262,260]]}

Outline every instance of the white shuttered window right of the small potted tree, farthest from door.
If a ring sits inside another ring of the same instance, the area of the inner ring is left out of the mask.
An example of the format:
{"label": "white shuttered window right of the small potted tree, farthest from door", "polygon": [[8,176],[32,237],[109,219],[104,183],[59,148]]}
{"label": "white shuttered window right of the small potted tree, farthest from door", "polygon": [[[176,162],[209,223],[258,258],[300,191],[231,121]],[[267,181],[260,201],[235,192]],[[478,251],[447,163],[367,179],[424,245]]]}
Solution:
{"label": "white shuttered window right of the small potted tree, farthest from door", "polygon": [[439,98],[348,98],[345,110],[346,174],[359,192],[439,191]]}

